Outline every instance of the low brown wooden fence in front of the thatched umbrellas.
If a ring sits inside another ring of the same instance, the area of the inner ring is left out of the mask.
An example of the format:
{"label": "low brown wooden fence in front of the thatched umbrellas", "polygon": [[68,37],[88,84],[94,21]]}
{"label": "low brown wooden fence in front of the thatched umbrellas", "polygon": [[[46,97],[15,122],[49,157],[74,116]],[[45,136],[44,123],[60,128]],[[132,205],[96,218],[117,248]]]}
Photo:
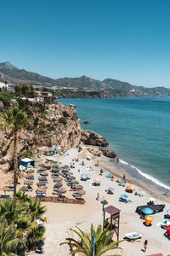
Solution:
{"label": "low brown wooden fence in front of the thatched umbrellas", "polygon": [[53,203],[65,203],[65,204],[78,204],[78,205],[84,205],[85,200],[84,199],[77,199],[77,198],[63,198],[63,197],[55,197],[55,196],[44,196],[44,197],[37,197],[40,201],[45,202],[53,202]]}

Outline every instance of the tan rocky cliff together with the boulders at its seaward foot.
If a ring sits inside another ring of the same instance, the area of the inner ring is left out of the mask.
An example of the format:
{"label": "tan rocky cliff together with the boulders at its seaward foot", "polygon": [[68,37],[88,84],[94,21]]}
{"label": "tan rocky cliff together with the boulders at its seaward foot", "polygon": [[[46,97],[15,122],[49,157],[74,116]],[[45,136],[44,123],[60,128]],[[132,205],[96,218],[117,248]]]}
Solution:
{"label": "tan rocky cliff together with the boulders at its seaward foot", "polygon": [[[82,131],[73,107],[59,102],[48,105],[35,103],[27,106],[26,113],[31,125],[18,133],[18,152],[23,157],[28,151],[35,154],[39,147],[58,144],[62,149],[85,144],[91,146],[88,151],[94,155],[116,157],[116,153],[107,147],[104,137],[94,131]],[[3,123],[3,119],[0,122]],[[0,130],[0,165],[4,172],[13,169],[13,135],[10,131]]]}

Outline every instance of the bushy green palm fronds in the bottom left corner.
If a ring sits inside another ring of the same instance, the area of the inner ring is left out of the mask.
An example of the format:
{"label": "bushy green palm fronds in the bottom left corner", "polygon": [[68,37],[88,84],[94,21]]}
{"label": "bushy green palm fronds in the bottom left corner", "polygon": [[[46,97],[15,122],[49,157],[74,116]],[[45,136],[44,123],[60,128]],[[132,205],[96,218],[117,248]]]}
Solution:
{"label": "bushy green palm fronds in the bottom left corner", "polygon": [[24,246],[25,241],[15,238],[15,228],[13,225],[5,227],[5,224],[0,226],[0,255],[2,256],[18,256],[14,253],[20,246]]}

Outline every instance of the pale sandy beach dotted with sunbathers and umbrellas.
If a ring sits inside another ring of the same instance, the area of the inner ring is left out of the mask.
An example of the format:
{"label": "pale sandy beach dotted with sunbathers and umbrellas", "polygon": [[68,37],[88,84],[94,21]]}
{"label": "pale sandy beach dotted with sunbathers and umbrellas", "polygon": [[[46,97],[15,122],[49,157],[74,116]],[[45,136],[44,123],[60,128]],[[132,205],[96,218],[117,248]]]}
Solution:
{"label": "pale sandy beach dotted with sunbathers and umbrellas", "polygon": [[[42,255],[59,255],[66,256],[69,255],[68,246],[59,246],[59,243],[65,241],[66,237],[73,236],[70,231],[76,225],[89,233],[90,225],[94,224],[96,227],[98,224],[103,224],[103,212],[102,204],[96,200],[97,193],[99,197],[106,195],[105,189],[108,187],[113,187],[114,195],[109,195],[108,205],[114,206],[121,210],[120,213],[120,237],[122,240],[124,235],[129,232],[137,232],[142,235],[141,241],[122,241],[120,247],[122,247],[121,255],[131,256],[131,255],[150,255],[153,253],[163,253],[163,255],[168,255],[170,253],[170,241],[163,236],[165,230],[157,226],[158,223],[164,220],[164,214],[170,207],[170,202],[168,197],[163,195],[159,189],[152,188],[136,180],[134,177],[128,175],[125,170],[122,169],[116,163],[113,163],[111,159],[102,157],[95,157],[91,155],[91,160],[84,160],[85,166],[82,166],[82,159],[78,162],[75,158],[79,156],[77,149],[72,148],[68,150],[65,155],[59,156],[56,160],[59,161],[60,165],[71,165],[74,163],[75,168],[71,169],[73,175],[77,178],[77,181],[82,184],[83,190],[86,191],[86,195],[83,196],[86,203],[84,205],[71,205],[71,204],[55,204],[55,203],[45,203],[43,205],[47,206],[47,218],[48,222],[46,226],[46,240],[43,247]],[[44,156],[42,156],[44,160]],[[73,161],[74,160],[74,161]],[[99,160],[99,166],[95,166],[95,163]],[[41,157],[39,159],[41,161]],[[88,171],[88,167],[91,166],[94,171]],[[103,175],[99,175],[99,170],[102,168]],[[78,170],[80,169],[80,172]],[[111,178],[106,177],[109,172],[114,173],[114,181]],[[82,173],[88,173],[91,179],[88,182],[83,182],[80,180]],[[116,183],[117,177],[122,177],[125,173],[127,184],[133,183],[135,189],[140,192],[143,196],[128,194],[125,192],[125,188],[119,186]],[[101,183],[100,186],[93,186],[92,183],[94,178],[99,177]],[[36,182],[34,182],[36,183]],[[47,195],[51,195],[53,190],[53,181],[48,177],[48,190]],[[66,186],[66,185],[65,185]],[[66,187],[68,189],[68,187]],[[127,194],[128,199],[132,202],[125,204],[119,201],[119,197],[122,194]],[[71,197],[71,191],[67,192],[67,196]],[[144,219],[139,218],[139,214],[136,213],[136,207],[146,205],[150,197],[156,198],[156,204],[165,204],[163,212],[159,212],[153,215],[154,221],[150,227],[143,224]],[[106,207],[107,207],[106,206]],[[108,216],[109,217],[109,216]],[[114,236],[116,239],[116,236]],[[146,253],[141,251],[144,248],[144,241],[148,240],[148,247]],[[34,253],[33,255],[38,255]],[[80,254],[81,255],[81,254]],[[111,253],[105,253],[105,255],[111,255]]]}

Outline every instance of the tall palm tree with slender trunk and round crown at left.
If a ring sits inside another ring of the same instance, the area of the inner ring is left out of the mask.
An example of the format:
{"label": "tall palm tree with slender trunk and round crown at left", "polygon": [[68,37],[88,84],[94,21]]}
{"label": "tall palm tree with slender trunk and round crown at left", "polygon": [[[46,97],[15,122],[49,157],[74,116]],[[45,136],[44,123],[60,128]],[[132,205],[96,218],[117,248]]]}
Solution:
{"label": "tall palm tree with slender trunk and round crown at left", "polygon": [[20,108],[8,108],[4,113],[1,114],[5,123],[1,125],[3,129],[10,129],[13,132],[14,139],[14,203],[16,198],[16,172],[18,168],[17,161],[17,137],[18,131],[22,128],[26,128],[28,125],[28,119],[26,113],[22,112]]}

